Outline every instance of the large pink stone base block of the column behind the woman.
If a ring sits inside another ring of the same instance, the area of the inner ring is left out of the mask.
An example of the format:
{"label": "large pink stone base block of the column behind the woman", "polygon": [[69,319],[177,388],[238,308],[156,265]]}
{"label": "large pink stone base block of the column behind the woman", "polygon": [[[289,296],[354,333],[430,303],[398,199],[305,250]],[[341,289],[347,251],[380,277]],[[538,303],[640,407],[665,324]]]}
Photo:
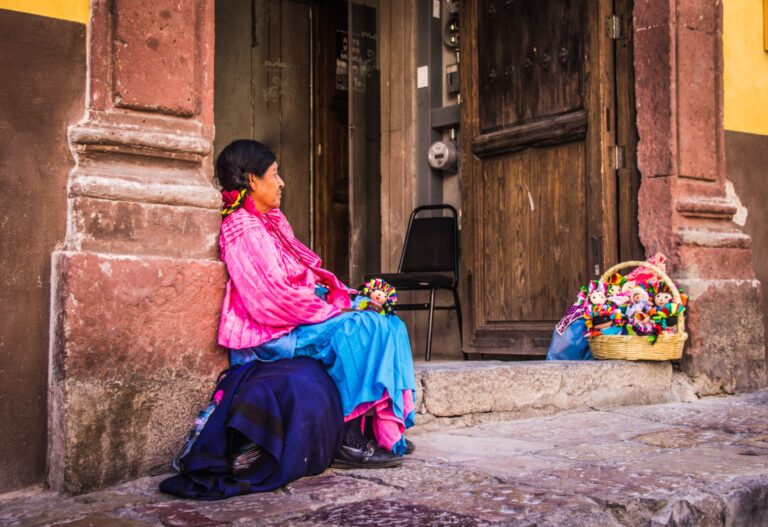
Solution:
{"label": "large pink stone base block of the column behind the woman", "polygon": [[55,258],[49,483],[83,492],[164,469],[227,365],[223,265]]}

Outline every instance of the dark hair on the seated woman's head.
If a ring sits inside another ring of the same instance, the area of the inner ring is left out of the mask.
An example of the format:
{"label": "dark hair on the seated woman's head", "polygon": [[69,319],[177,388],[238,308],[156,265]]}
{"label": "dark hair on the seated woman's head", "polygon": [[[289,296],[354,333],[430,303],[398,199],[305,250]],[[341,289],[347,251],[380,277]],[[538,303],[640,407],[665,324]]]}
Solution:
{"label": "dark hair on the seated woman's head", "polygon": [[216,159],[216,179],[224,190],[248,186],[248,174],[263,177],[277,158],[272,150],[250,139],[232,141]]}

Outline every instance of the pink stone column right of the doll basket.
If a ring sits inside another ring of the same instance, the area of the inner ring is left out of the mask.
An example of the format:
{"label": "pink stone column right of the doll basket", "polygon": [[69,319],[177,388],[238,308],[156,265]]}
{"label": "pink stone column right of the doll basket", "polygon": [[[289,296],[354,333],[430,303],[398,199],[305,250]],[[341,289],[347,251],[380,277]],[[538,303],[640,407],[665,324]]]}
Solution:
{"label": "pink stone column right of the doll basket", "polygon": [[722,6],[636,0],[640,238],[690,296],[682,365],[702,393],[765,386],[761,286],[725,197]]}

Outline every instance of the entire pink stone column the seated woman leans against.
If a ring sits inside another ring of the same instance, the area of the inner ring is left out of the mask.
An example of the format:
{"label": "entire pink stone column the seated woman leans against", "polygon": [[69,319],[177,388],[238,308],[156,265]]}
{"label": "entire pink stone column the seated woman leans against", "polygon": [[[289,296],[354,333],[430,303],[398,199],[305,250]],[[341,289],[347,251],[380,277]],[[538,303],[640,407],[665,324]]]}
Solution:
{"label": "entire pink stone column the seated woman leans against", "polygon": [[225,366],[213,0],[91,6],[52,277],[48,481],[71,492],[167,466]]}

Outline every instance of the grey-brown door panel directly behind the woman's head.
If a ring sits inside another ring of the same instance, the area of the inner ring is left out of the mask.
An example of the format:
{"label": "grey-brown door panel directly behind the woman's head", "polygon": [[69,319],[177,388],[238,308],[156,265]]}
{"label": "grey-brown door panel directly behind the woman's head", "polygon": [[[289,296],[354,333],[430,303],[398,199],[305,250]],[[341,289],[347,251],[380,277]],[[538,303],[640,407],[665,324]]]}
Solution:
{"label": "grey-brown door panel directly behind the woman's head", "polygon": [[311,243],[311,18],[301,0],[216,3],[216,153],[255,139],[277,155],[281,209]]}

